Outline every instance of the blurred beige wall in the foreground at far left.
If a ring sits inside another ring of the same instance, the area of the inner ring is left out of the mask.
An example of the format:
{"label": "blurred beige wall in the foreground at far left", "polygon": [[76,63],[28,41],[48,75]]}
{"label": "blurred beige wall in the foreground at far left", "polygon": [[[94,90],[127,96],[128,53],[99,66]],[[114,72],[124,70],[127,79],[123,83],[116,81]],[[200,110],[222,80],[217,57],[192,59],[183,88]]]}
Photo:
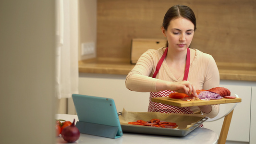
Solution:
{"label": "blurred beige wall in the foreground at far left", "polygon": [[54,144],[55,0],[0,2],[0,144]]}

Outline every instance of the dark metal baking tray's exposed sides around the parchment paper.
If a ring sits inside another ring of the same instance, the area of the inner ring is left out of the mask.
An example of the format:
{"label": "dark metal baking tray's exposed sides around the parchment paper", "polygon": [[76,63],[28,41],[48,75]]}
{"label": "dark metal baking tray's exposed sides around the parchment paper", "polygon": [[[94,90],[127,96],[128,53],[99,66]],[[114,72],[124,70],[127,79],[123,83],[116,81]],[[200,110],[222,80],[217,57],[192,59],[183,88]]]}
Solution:
{"label": "dark metal baking tray's exposed sides around the parchment paper", "polygon": [[[119,112],[118,115],[122,115],[122,112]],[[200,124],[205,122],[208,118],[202,118],[194,125],[188,129],[169,129],[169,128],[157,128],[157,127],[147,127],[147,126],[137,126],[137,125],[123,125],[121,124],[123,132],[131,133],[143,133],[143,134],[154,134],[154,135],[167,135],[167,136],[178,136],[183,137],[195,130]]]}

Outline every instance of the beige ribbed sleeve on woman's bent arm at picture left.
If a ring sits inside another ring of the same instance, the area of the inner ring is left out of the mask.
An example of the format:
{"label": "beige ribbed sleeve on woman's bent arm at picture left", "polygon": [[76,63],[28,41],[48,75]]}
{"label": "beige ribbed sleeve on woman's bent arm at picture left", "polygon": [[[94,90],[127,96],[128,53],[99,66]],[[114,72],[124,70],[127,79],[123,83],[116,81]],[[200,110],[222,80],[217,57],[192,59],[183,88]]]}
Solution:
{"label": "beige ribbed sleeve on woman's bent arm at picture left", "polygon": [[157,52],[147,50],[139,58],[133,70],[126,76],[126,88],[136,92],[157,92],[156,83],[159,79],[150,77],[152,71],[155,70],[154,63],[157,58]]}

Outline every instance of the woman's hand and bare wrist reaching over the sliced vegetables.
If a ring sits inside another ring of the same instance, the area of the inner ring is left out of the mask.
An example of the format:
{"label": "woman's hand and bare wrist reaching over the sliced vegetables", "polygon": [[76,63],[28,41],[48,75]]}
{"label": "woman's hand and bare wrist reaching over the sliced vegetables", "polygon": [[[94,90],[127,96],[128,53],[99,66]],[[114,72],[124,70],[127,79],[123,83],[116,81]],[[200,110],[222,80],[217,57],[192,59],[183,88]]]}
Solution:
{"label": "woman's hand and bare wrist reaching over the sliced vegetables", "polygon": [[189,81],[172,83],[172,82],[159,80],[156,84],[156,88],[158,91],[171,90],[171,91],[176,91],[178,93],[187,94],[188,96],[197,97],[195,86]]}

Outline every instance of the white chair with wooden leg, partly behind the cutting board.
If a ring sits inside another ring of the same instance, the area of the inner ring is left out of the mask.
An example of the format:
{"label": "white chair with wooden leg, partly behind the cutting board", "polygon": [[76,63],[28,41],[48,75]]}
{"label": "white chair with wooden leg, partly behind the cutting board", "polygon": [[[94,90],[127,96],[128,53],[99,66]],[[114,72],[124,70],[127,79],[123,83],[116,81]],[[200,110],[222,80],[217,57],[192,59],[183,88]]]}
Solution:
{"label": "white chair with wooden leg, partly behind the cutting board", "polygon": [[[238,96],[236,94],[231,94],[231,96]],[[205,122],[215,121],[224,118],[222,128],[219,134],[219,141],[218,144],[225,144],[229,132],[230,122],[232,119],[234,108],[236,107],[237,103],[229,103],[229,104],[220,104],[219,105],[219,114],[212,118],[208,119]]]}

